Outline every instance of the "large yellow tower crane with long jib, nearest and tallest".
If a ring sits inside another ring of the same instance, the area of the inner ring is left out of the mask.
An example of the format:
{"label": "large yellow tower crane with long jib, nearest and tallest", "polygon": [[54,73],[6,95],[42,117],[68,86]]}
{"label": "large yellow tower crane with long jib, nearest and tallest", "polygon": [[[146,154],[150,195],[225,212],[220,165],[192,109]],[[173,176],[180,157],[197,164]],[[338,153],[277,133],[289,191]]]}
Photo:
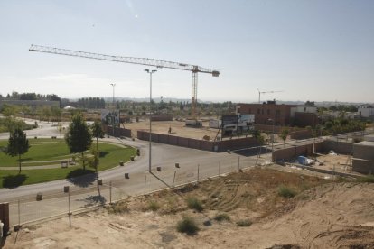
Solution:
{"label": "large yellow tower crane with long jib, nearest and tallest", "polygon": [[109,60],[109,61],[116,61],[116,62],[130,63],[130,64],[152,66],[156,68],[179,69],[179,70],[192,71],[191,115],[193,119],[196,118],[198,73],[209,73],[213,77],[220,76],[220,71],[218,70],[205,69],[205,68],[202,68],[196,65],[190,65],[186,63],[179,63],[179,62],[173,62],[173,61],[167,61],[167,60],[115,56],[115,55],[106,55],[106,54],[99,54],[99,53],[85,52],[85,51],[71,51],[71,50],[58,49],[58,48],[33,45],[33,44],[31,45],[29,51],[61,54],[61,55],[82,57],[82,58],[95,59],[95,60]]}

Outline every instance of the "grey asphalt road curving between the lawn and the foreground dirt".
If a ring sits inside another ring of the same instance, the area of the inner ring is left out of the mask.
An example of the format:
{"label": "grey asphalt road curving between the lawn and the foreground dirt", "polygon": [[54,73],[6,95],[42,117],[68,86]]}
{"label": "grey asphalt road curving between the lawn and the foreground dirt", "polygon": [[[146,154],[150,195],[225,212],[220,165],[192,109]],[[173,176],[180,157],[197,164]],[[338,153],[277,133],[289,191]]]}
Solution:
{"label": "grey asphalt road curving between the lawn and the foreground dirt", "polygon": [[[52,124],[40,124],[37,129],[27,131],[26,134],[29,137],[59,137],[60,135],[57,127]],[[0,139],[7,139],[8,135],[0,134]],[[11,224],[66,214],[69,210],[69,199],[68,194],[63,192],[64,186],[70,186],[70,209],[74,211],[270,161],[269,154],[257,158],[257,148],[217,153],[153,143],[152,173],[149,173],[148,142],[114,137],[103,140],[134,146],[140,149],[141,155],[136,158],[136,161],[127,162],[125,166],[100,171],[98,177],[104,183],[99,187],[101,195],[98,195],[97,181],[92,175],[20,186],[14,189],[0,189],[0,201],[10,202]],[[175,163],[179,163],[180,168],[176,168]],[[160,167],[161,171],[157,171],[157,167]],[[129,179],[125,178],[125,173],[128,173]],[[43,200],[36,201],[36,195],[40,192],[42,192]]]}

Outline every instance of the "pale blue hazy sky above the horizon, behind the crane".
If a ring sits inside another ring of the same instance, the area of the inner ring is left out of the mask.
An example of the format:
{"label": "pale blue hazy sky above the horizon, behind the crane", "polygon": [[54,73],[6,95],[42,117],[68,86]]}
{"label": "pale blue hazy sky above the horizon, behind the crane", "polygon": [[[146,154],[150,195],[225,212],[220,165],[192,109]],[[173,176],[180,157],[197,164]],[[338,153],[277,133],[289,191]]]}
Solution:
{"label": "pale blue hazy sky above the horizon, behind the crane", "polygon": [[[373,103],[373,13],[371,0],[0,0],[0,94],[149,97],[153,68],[37,44],[220,70],[198,75],[200,101]],[[192,73],[157,69],[152,85],[189,99]]]}

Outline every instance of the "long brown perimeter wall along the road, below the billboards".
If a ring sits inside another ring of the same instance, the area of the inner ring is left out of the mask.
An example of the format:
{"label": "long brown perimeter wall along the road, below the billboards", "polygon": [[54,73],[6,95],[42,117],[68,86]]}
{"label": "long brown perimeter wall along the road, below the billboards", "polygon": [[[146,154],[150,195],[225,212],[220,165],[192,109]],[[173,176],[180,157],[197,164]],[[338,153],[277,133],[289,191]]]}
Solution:
{"label": "long brown perimeter wall along the road, below the billboards", "polygon": [[[148,141],[149,133],[146,131],[138,131],[137,139]],[[252,137],[213,142],[169,134],[152,134],[152,141],[155,143],[165,143],[210,152],[215,151],[215,148],[217,152],[225,152],[227,150],[236,150],[257,145],[256,140]]]}

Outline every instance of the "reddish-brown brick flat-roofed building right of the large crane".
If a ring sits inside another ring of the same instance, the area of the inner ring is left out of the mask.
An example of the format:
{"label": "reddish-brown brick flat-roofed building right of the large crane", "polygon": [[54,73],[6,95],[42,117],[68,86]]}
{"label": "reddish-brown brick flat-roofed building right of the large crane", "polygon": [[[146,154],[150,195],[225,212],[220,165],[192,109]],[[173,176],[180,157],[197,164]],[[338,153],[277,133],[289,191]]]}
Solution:
{"label": "reddish-brown brick flat-roofed building right of the large crane", "polygon": [[316,106],[298,106],[298,105],[276,105],[276,101],[267,101],[263,104],[243,104],[237,105],[237,114],[255,115],[255,124],[272,125],[297,125],[314,126],[318,124]]}

